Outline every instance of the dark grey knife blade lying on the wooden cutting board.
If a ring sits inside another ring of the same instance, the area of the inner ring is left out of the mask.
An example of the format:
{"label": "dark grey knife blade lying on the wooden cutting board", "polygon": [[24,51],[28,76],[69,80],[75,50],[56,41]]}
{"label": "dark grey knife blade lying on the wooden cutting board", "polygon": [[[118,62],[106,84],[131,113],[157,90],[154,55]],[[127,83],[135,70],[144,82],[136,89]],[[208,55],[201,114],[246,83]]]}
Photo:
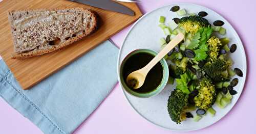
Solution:
{"label": "dark grey knife blade lying on the wooden cutting board", "polygon": [[90,5],[92,7],[110,10],[110,11],[127,14],[131,16],[135,15],[133,10],[131,10],[130,8],[127,8],[119,3],[116,3],[110,0],[69,0],[69,1]]}

